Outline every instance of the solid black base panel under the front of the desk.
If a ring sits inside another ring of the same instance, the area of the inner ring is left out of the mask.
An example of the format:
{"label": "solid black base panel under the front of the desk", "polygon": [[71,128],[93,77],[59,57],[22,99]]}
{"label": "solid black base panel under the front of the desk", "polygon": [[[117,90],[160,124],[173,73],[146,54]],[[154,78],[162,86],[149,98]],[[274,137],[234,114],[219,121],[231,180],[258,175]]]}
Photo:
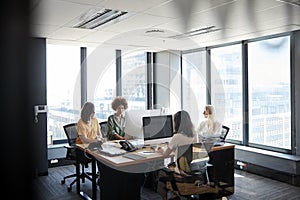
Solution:
{"label": "solid black base panel under the front of the desk", "polygon": [[100,166],[100,199],[141,199],[143,174],[127,173],[108,167]]}

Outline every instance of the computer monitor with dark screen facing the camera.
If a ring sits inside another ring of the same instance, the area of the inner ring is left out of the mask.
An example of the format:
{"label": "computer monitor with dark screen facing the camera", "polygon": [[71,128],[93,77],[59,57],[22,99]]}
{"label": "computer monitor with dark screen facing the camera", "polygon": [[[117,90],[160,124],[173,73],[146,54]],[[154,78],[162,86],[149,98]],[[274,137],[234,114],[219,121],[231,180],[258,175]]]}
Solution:
{"label": "computer monitor with dark screen facing the camera", "polygon": [[143,133],[145,145],[169,142],[173,136],[172,115],[143,117]]}

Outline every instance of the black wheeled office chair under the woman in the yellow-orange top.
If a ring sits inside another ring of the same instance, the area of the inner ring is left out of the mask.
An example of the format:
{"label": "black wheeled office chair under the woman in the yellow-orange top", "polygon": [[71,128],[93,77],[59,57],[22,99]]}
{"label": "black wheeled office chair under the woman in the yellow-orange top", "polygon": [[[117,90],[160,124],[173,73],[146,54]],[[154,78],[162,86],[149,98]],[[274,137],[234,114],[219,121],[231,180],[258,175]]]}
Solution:
{"label": "black wheeled office chair under the woman in the yellow-orange top", "polygon": [[[85,178],[92,181],[92,173],[91,172],[85,172],[85,168],[88,168],[88,164],[91,162],[91,159],[86,157],[84,153],[80,150],[76,149],[75,142],[77,138],[77,123],[70,123],[63,126],[63,129],[65,131],[65,134],[68,139],[68,145],[65,146],[67,148],[67,154],[66,159],[68,160],[74,160],[74,165],[76,166],[76,159],[79,161],[79,164],[81,165],[81,173],[80,173],[80,179],[82,183],[85,182]],[[61,180],[61,184],[65,184],[66,179],[76,177],[76,173],[65,176]],[[68,192],[72,190],[72,185],[76,183],[77,178],[75,178],[70,185],[68,186]]]}

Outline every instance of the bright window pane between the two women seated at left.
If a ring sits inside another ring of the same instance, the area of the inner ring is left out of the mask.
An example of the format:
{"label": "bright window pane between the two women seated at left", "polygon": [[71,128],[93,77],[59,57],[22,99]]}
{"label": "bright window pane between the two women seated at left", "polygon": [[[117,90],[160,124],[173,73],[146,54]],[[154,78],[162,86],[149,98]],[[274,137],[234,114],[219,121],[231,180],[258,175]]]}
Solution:
{"label": "bright window pane between the two women seated at left", "polygon": [[106,121],[116,96],[115,49],[87,48],[87,100],[95,105],[96,117]]}

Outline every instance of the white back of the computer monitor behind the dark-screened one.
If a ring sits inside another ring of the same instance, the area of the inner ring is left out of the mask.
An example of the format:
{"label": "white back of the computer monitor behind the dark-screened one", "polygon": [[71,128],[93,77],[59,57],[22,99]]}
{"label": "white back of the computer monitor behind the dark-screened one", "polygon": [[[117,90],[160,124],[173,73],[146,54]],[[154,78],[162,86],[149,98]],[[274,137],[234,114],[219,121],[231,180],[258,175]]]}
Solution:
{"label": "white back of the computer monitor behind the dark-screened one", "polygon": [[125,111],[125,138],[143,139],[142,117],[160,115],[160,109],[152,110],[126,110]]}

